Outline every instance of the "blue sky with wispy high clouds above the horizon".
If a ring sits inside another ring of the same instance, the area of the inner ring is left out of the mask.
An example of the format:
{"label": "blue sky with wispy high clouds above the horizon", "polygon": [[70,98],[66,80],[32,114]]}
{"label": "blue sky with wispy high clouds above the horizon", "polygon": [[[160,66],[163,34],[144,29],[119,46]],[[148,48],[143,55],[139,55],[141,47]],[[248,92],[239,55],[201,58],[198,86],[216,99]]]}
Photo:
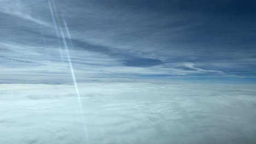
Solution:
{"label": "blue sky with wispy high clouds above the horizon", "polygon": [[253,82],[255,5],[1,0],[0,83]]}

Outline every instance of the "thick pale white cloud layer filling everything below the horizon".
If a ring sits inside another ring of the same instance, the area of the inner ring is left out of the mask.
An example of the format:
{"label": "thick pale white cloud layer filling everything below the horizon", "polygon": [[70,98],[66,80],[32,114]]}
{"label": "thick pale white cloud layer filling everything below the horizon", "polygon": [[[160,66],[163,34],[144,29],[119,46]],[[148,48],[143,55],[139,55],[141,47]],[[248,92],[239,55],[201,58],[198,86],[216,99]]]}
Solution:
{"label": "thick pale white cloud layer filling everything below the horizon", "polygon": [[[255,86],[80,83],[1,85],[1,143],[254,143]],[[26,133],[24,133],[26,131]],[[221,135],[220,135],[221,134]]]}

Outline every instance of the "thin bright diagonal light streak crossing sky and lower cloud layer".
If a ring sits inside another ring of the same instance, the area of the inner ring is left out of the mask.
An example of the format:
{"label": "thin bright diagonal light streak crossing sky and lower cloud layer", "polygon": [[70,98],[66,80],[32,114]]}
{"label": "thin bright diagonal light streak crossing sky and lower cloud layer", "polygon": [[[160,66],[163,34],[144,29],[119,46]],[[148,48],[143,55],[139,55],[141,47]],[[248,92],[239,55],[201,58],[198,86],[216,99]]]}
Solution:
{"label": "thin bright diagonal light streak crossing sky and lower cloud layer", "polygon": [[[86,138],[86,143],[90,143],[89,135],[88,135],[88,130],[87,130],[86,123],[85,123],[85,118],[84,118],[85,113],[84,113],[83,106],[82,106],[80,92],[79,92],[79,89],[78,89],[78,86],[77,86],[77,79],[75,78],[75,74],[74,74],[72,60],[71,60],[70,55],[69,55],[66,38],[65,38],[65,35],[64,35],[63,31],[62,31],[62,28],[58,28],[57,27],[56,19],[55,19],[55,16],[54,16],[54,11],[53,11],[53,8],[51,7],[50,0],[48,1],[48,4],[49,4],[50,11],[51,11],[51,17],[53,18],[55,32],[56,32],[56,35],[57,35],[58,38],[59,38],[59,31],[58,30],[60,30],[60,35],[61,35],[61,38],[62,38],[62,41],[63,41],[63,45],[65,47],[65,51],[66,51],[66,55],[67,55],[67,59],[68,59],[68,64],[69,64],[69,68],[70,68],[70,71],[71,71],[71,75],[72,75],[72,79],[73,79],[73,83],[74,83],[74,87],[75,87],[75,92],[77,93],[77,99],[78,99],[80,113],[81,113],[81,115],[83,117],[84,133],[85,133],[85,136],[86,136],[85,137]],[[69,38],[69,40],[70,40],[70,42],[72,44],[71,36],[70,36],[69,30],[68,30],[68,27],[67,27],[67,23],[66,23],[66,21],[64,19],[63,19],[63,23],[65,25],[65,29],[66,29],[66,33],[68,35],[68,38]],[[72,47],[73,47],[73,45],[72,45]]]}

